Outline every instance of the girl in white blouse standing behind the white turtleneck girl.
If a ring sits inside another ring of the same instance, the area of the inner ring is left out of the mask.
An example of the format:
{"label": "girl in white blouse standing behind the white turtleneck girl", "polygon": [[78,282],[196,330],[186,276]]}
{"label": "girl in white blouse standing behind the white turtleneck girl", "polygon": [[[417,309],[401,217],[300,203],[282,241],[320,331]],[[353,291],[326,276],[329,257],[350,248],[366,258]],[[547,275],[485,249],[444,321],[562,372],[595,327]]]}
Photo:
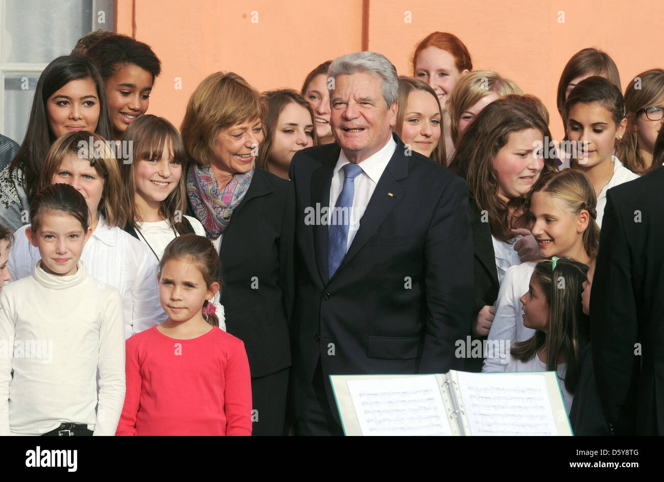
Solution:
{"label": "girl in white blouse standing behind the white turtleneck girl", "polygon": [[[165,313],[155,285],[157,260],[122,228],[127,222],[120,167],[114,152],[99,134],[70,132],[50,147],[39,178],[39,189],[70,184],[86,199],[92,235],[81,260],[97,281],[120,291],[124,306],[125,338],[161,323]],[[27,225],[15,233],[9,272],[14,279],[31,275],[39,250],[25,235]]]}

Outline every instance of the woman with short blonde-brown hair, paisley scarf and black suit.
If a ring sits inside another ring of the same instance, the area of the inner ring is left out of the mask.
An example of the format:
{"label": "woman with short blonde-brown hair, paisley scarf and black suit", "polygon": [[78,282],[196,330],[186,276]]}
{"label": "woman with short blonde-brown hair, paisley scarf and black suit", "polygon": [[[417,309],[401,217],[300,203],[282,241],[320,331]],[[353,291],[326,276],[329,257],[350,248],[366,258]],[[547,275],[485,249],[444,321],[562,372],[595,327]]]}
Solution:
{"label": "woman with short blonde-brown hair, paisley scarf and black suit", "polygon": [[218,250],[226,330],[244,341],[252,376],[254,435],[283,435],[291,366],[295,192],[255,166],[263,143],[260,94],[232,72],[194,90],[181,132],[190,213]]}

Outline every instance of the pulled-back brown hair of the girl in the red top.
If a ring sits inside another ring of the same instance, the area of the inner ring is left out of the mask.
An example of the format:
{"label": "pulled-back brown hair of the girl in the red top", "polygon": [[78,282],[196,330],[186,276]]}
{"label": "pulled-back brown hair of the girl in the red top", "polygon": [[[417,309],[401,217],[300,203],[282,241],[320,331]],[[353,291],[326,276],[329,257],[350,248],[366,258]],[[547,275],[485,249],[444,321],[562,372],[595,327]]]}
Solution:
{"label": "pulled-back brown hair of the girl in the red top", "polygon": [[[219,290],[221,290],[221,263],[219,261],[219,254],[214,249],[212,241],[206,237],[185,234],[173,239],[164,250],[164,255],[161,257],[161,261],[159,261],[157,271],[161,273],[161,269],[171,259],[185,260],[195,264],[201,271],[201,275],[203,275],[205,287],[209,289],[212,283],[219,283]],[[203,308],[210,302],[205,300]],[[208,314],[205,320],[212,326],[219,326],[219,318],[217,318],[216,314]]]}

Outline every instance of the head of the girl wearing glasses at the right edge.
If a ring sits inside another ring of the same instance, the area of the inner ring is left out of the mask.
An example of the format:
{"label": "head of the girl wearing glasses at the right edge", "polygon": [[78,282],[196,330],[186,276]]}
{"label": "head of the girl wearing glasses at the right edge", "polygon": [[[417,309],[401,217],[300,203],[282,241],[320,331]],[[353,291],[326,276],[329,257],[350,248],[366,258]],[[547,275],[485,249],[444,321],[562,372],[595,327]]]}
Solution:
{"label": "head of the girl wearing glasses at the right edge", "polygon": [[646,70],[629,82],[625,110],[627,129],[622,142],[618,142],[618,158],[635,174],[661,167],[653,163],[653,152],[664,124],[664,69]]}

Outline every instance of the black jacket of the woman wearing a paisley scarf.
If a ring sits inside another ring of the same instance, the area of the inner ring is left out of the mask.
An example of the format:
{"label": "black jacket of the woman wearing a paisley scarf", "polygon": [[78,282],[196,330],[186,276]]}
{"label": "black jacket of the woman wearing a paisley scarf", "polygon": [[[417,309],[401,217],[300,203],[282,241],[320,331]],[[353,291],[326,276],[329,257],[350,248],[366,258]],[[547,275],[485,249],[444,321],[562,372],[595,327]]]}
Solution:
{"label": "black jacket of the woman wearing a paisley scarf", "polygon": [[256,168],[219,251],[226,331],[244,342],[252,378],[291,365],[294,223],[291,182]]}

